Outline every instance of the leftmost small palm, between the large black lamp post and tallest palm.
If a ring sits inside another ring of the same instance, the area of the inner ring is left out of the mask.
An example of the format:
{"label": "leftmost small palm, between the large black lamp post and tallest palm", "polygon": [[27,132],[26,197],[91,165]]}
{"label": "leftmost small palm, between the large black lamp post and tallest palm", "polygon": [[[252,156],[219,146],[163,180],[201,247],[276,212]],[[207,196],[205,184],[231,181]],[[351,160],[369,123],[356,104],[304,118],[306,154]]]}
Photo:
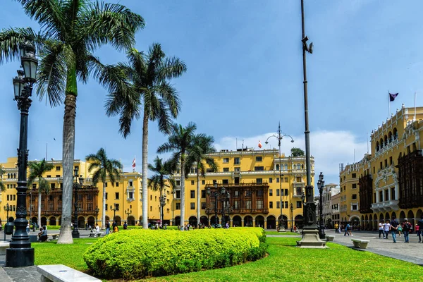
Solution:
{"label": "leftmost small palm, between the large black lamp post and tallest palm", "polygon": [[38,182],[38,226],[41,226],[41,194],[49,194],[50,185],[42,175],[54,168],[54,164],[47,163],[46,159],[42,161],[32,161],[29,164],[30,176],[28,176],[28,186],[31,186],[35,180]]}

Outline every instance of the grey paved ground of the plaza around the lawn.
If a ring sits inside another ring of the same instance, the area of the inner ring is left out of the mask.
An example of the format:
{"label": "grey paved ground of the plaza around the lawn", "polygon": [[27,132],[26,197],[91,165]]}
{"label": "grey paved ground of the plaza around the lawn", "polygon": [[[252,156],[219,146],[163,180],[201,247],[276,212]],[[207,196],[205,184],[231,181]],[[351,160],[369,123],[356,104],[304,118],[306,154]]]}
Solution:
{"label": "grey paved ground of the plaza around the lawn", "polygon": [[[59,230],[51,230],[49,233],[59,233]],[[353,237],[344,236],[343,233],[338,234],[333,230],[326,230],[326,235],[334,235],[333,243],[353,247],[351,239],[360,238],[369,240],[367,249],[355,249],[363,252],[374,252],[385,257],[392,257],[400,259],[405,262],[411,262],[423,266],[423,243],[418,243],[419,238],[415,233],[410,234],[410,243],[404,243],[404,237],[398,237],[397,243],[393,243],[392,236],[389,234],[388,239],[379,239],[379,233],[376,232],[353,232]],[[37,235],[36,232],[31,232],[30,235]],[[88,238],[90,231],[80,230],[80,238]],[[267,235],[268,237],[279,237],[280,235]],[[301,235],[286,235],[284,237],[301,238]],[[3,231],[0,232],[0,240],[4,240]],[[6,240],[11,240],[11,235],[6,235]],[[406,254],[406,255],[404,255]],[[35,282],[40,281],[41,275],[37,272],[36,266],[27,267],[4,267],[6,256],[0,255],[0,281],[1,282]]]}

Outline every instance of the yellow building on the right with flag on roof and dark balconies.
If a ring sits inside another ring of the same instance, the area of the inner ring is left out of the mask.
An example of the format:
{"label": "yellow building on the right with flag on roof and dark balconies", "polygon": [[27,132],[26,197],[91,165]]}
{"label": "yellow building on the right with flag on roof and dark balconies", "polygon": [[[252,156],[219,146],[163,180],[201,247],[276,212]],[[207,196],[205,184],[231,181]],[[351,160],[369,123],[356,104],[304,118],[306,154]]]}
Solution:
{"label": "yellow building on the right with flag on roof and dark balconies", "polygon": [[[422,130],[423,107],[403,105],[372,131],[372,154],[340,173],[341,221],[357,221],[358,216],[362,228],[373,230],[392,216],[417,223],[423,215]],[[353,195],[357,195],[360,214],[348,209],[348,203],[355,201]]]}

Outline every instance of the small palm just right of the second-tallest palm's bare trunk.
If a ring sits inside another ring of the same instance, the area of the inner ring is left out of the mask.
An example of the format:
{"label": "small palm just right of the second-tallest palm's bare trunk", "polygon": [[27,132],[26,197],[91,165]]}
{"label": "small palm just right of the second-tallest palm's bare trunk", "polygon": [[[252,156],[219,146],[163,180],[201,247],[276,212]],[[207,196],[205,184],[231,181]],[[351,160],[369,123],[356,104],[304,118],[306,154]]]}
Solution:
{"label": "small palm just right of the second-tallest palm's bare trunk", "polygon": [[[170,161],[163,161],[158,156],[154,159],[154,165],[148,164],[148,169],[156,174],[149,178],[148,186],[150,189],[160,191],[160,198],[163,196],[164,190],[166,188],[171,187],[173,181],[168,175],[171,174],[171,162]],[[163,224],[163,207],[160,205],[161,212],[160,212],[160,222]]]}

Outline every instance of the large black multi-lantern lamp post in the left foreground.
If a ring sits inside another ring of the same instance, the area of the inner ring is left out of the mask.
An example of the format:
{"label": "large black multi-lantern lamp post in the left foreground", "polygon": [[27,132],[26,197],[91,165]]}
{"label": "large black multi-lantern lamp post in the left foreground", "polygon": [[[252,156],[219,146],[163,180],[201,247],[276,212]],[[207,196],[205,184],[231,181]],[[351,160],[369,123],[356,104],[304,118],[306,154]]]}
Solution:
{"label": "large black multi-lantern lamp post in the left foreground", "polygon": [[26,232],[27,226],[27,136],[28,112],[30,110],[32,85],[35,83],[38,60],[35,57],[35,47],[29,42],[19,44],[20,63],[23,71],[18,71],[18,76],[13,78],[15,101],[20,110],[20,133],[18,148],[18,188],[16,201],[16,219],[10,248],[6,249],[6,267],[23,267],[34,265],[34,248],[31,247],[30,238]]}

